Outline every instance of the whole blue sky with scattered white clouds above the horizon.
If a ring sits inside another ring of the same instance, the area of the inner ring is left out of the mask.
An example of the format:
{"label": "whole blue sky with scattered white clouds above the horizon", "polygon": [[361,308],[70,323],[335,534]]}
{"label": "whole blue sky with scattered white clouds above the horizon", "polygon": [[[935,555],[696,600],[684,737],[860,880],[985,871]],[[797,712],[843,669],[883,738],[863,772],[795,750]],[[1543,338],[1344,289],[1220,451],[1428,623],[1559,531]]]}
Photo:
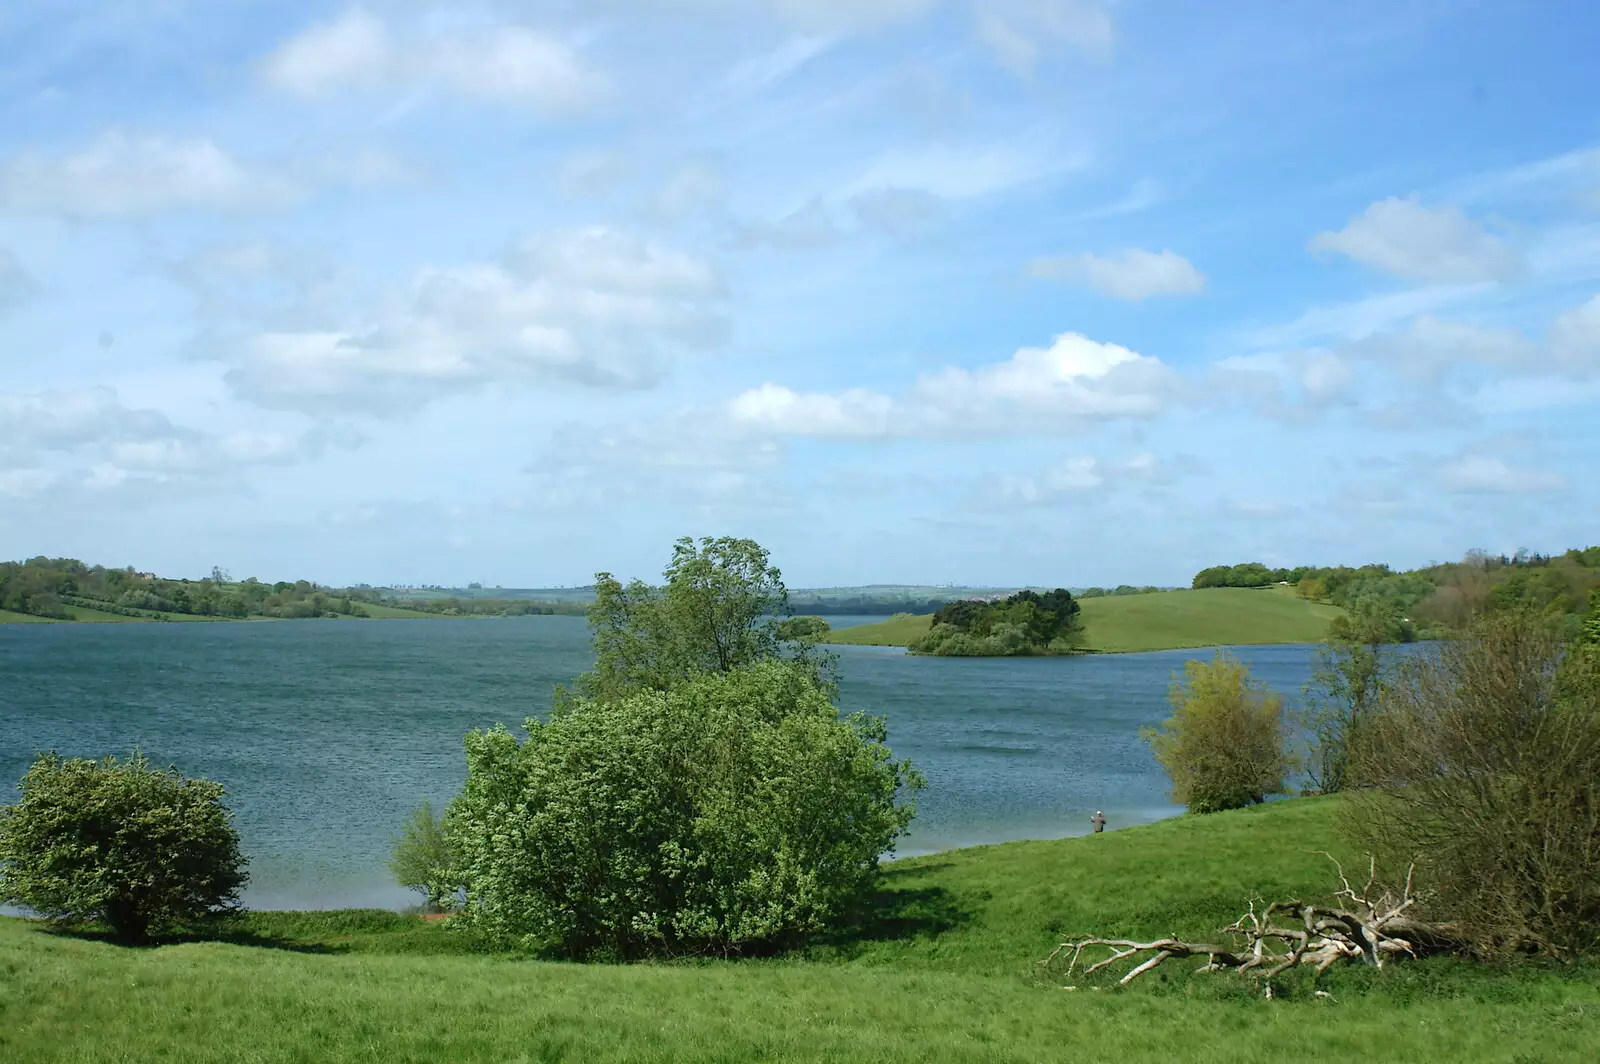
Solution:
{"label": "whole blue sky with scattered white clouds above the horizon", "polygon": [[1586,546],[1595,42],[1579,0],[6,0],[0,558]]}

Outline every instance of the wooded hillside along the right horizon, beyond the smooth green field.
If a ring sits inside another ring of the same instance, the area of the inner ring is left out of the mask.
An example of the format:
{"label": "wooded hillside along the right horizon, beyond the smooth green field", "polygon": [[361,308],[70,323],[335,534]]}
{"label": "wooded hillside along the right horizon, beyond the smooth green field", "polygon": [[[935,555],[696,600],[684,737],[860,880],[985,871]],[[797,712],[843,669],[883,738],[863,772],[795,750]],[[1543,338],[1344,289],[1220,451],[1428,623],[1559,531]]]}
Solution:
{"label": "wooded hillside along the right horizon, beyond the smooth green field", "polygon": [[1469,550],[1461,562],[1405,571],[1381,563],[1269,568],[1245,562],[1200,570],[1192,587],[1274,584],[1288,584],[1302,598],[1350,611],[1379,608],[1402,619],[1406,638],[1459,627],[1485,610],[1517,606],[1558,614],[1574,629],[1589,610],[1590,595],[1600,590],[1600,546],[1557,555]]}

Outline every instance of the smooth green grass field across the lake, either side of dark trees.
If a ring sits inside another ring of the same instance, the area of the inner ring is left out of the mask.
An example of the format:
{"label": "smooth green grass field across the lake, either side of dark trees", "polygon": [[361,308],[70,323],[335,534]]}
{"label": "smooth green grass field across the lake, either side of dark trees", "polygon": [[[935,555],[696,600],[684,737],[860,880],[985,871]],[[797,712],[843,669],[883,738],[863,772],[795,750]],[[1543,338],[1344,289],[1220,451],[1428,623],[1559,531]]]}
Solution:
{"label": "smooth green grass field across the lake, either side of dark trees", "polygon": [[[1150,595],[1083,598],[1086,650],[1130,653],[1190,646],[1317,643],[1338,606],[1306,602],[1283,589],[1213,587]],[[928,630],[926,616],[842,629],[829,643],[907,646]]]}

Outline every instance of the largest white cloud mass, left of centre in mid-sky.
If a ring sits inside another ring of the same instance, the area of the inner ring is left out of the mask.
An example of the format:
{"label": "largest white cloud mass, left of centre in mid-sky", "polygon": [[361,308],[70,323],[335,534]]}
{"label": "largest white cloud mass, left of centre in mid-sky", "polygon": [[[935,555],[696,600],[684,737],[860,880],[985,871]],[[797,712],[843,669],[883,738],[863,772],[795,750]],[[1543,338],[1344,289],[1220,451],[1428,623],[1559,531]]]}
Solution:
{"label": "largest white cloud mass, left of centre in mid-sky", "polygon": [[672,347],[722,339],[717,274],[614,229],[530,237],[499,262],[430,269],[336,330],[267,331],[213,352],[266,406],[414,408],[488,382],[654,384]]}

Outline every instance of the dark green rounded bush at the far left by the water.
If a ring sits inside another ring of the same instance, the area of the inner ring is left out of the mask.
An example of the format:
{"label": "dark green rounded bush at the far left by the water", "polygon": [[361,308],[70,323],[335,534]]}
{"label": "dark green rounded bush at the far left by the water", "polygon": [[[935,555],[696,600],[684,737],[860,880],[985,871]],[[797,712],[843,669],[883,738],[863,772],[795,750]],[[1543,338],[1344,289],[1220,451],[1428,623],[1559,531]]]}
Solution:
{"label": "dark green rounded bush at the far left by the water", "polygon": [[123,941],[237,910],[245,858],[221,784],[128,762],[34,762],[0,806],[0,901]]}

